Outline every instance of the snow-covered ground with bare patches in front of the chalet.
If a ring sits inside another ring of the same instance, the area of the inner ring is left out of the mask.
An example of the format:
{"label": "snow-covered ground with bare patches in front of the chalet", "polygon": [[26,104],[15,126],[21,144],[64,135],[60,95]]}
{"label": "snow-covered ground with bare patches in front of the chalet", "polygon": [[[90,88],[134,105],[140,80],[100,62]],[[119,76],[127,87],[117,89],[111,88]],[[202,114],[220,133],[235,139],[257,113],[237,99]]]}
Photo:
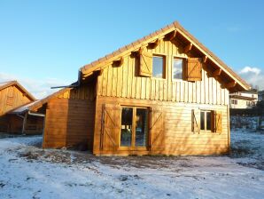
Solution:
{"label": "snow-covered ground with bare patches in front of the chalet", "polygon": [[41,139],[0,139],[0,198],[264,198],[264,134],[232,131],[229,156],[94,156]]}

